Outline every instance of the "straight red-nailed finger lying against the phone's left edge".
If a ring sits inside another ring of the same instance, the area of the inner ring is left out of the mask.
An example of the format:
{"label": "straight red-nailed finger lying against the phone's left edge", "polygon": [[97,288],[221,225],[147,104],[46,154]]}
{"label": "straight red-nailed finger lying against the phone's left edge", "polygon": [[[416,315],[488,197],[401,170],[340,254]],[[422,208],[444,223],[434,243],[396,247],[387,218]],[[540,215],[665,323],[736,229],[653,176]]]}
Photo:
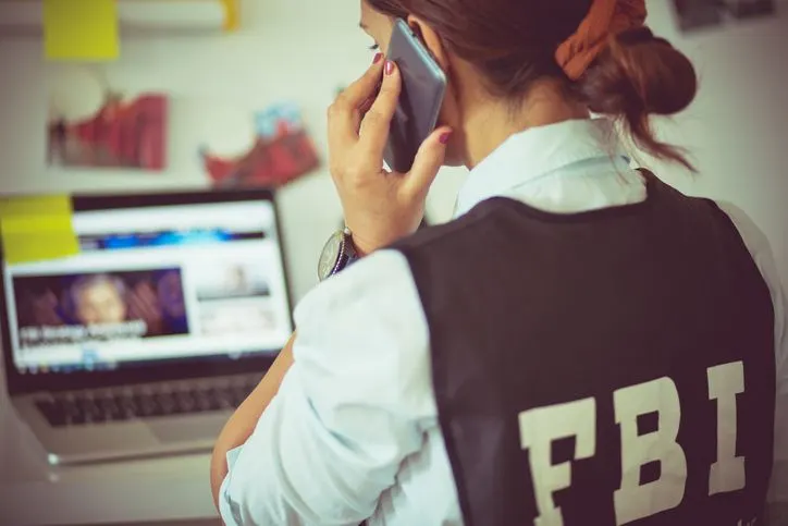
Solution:
{"label": "straight red-nailed finger lying against the phone's left edge", "polygon": [[391,121],[394,118],[399,94],[402,93],[399,68],[394,62],[386,61],[384,70],[380,94],[367,114],[364,115],[361,130],[358,134],[359,140],[364,144],[368,154],[377,157],[382,156],[385,149]]}

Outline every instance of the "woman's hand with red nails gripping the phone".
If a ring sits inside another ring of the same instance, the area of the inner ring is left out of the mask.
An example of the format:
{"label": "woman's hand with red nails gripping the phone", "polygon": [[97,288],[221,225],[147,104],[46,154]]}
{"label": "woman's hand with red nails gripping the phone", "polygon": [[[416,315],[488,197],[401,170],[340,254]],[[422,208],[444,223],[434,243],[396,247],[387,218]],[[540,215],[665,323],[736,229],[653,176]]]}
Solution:
{"label": "woman's hand with red nails gripping the phone", "polygon": [[[435,130],[421,145],[410,172],[392,173],[383,169],[402,77],[396,64],[381,59],[377,56],[367,73],[329,109],[331,175],[342,199],[345,224],[361,254],[382,248],[418,229],[427,193],[443,164],[452,132],[446,127]],[[380,94],[374,98],[381,76]]]}

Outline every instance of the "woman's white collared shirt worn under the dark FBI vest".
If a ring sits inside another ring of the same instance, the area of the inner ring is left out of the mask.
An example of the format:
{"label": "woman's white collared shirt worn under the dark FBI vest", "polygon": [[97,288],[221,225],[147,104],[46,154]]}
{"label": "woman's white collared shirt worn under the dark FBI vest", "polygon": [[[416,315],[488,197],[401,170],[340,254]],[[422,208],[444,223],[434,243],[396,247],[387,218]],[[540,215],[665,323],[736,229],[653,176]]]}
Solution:
{"label": "woman's white collared shirt worn under the dark FBI vest", "polygon": [[[471,171],[457,216],[493,196],[553,212],[642,201],[644,182],[614,137],[604,120],[517,134]],[[775,450],[788,465],[785,296],[764,235],[740,210],[724,209],[772,292]],[[295,319],[295,364],[253,436],[227,455],[220,494],[226,524],[463,524],[438,424],[427,320],[404,256],[365,258],[316,288]],[[786,472],[775,473],[773,499],[779,489],[788,501]]]}

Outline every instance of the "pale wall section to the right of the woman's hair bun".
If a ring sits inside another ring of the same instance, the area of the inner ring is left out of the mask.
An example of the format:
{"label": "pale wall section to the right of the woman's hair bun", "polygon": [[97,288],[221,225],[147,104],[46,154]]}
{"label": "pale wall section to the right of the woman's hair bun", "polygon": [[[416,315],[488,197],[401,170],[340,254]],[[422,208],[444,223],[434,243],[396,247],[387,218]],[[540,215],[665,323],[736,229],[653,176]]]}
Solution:
{"label": "pale wall section to the right of the woman's hair bun", "polygon": [[654,164],[681,191],[744,209],[772,242],[788,283],[788,3],[779,16],[724,30],[681,36],[666,1],[650,0],[649,23],[686,51],[701,77],[695,103],[661,126],[665,138],[692,152],[700,175]]}

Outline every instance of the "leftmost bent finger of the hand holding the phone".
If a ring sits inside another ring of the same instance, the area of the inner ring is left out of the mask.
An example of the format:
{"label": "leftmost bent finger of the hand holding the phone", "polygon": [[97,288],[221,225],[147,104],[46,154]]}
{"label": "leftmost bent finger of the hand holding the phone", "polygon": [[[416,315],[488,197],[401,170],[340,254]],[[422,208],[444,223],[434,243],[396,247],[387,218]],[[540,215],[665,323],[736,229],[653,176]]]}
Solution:
{"label": "leftmost bent finger of the hand holding the phone", "polygon": [[[380,58],[379,58],[380,57]],[[375,56],[375,61],[367,72],[342,91],[329,108],[329,138],[335,142],[356,140],[360,123],[361,108],[365,101],[374,97],[378,83],[383,73],[382,54]]]}

